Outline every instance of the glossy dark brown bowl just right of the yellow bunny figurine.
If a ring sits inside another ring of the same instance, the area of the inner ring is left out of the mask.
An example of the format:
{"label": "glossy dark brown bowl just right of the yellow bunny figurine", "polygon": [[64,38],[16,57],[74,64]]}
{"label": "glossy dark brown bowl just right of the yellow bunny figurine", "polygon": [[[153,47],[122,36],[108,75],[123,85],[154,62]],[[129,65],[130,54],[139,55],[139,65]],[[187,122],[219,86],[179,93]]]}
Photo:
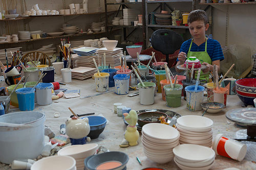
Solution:
{"label": "glossy dark brown bowl just right of the yellow bunny figurine", "polygon": [[[158,118],[160,116],[165,117],[165,121],[168,121],[168,115],[162,112],[142,112],[138,114],[138,124],[139,126],[144,126],[149,123],[161,123],[161,120]],[[147,120],[145,120],[147,118]],[[153,118],[153,119],[152,119]],[[150,121],[152,120],[152,121]]]}

